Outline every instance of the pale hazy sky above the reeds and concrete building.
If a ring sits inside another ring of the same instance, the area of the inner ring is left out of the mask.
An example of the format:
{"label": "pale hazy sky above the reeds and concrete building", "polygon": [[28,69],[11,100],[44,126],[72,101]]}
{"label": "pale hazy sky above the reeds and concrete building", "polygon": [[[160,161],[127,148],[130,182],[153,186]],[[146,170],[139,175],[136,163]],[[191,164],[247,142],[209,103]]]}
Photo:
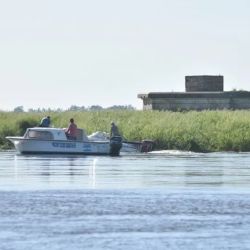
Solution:
{"label": "pale hazy sky above the reeds and concrete building", "polygon": [[250,91],[249,0],[0,0],[0,110],[132,105],[223,75]]}

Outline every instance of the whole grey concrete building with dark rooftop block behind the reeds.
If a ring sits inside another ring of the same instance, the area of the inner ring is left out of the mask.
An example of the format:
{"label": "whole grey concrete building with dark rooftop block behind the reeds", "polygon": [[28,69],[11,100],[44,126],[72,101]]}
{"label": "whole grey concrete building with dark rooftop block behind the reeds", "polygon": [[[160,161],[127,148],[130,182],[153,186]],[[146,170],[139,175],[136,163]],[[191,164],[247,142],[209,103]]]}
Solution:
{"label": "whole grey concrete building with dark rooftop block behind the reeds", "polygon": [[138,94],[144,110],[250,109],[249,91],[224,91],[223,76],[186,76],[186,92]]}

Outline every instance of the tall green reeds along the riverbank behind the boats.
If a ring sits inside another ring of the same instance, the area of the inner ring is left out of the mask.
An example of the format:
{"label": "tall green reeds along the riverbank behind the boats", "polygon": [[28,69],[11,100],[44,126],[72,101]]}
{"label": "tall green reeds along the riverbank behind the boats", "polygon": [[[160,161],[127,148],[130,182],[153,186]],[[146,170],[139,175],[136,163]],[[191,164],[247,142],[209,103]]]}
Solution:
{"label": "tall green reeds along the riverbank behind the boats", "polygon": [[0,147],[12,148],[7,135],[23,135],[27,127],[36,126],[45,115],[53,127],[67,127],[73,117],[87,134],[109,132],[115,121],[128,140],[152,139],[156,149],[196,152],[250,151],[250,111],[67,111],[0,112]]}

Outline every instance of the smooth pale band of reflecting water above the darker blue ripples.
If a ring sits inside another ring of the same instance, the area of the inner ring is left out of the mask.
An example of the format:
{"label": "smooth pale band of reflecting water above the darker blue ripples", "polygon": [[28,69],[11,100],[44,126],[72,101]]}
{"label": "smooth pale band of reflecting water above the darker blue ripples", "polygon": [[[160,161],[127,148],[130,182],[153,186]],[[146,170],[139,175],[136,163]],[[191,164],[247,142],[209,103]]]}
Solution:
{"label": "smooth pale band of reflecting water above the darker blue ripples", "polygon": [[0,188],[247,188],[249,153],[159,151],[108,156],[1,152]]}

